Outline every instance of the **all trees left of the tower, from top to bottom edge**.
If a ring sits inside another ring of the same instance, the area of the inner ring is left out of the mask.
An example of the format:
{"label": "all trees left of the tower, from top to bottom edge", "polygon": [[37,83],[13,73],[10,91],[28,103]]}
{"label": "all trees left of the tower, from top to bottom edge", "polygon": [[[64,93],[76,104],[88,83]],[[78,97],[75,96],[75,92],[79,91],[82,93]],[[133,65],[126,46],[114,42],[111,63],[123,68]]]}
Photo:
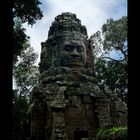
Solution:
{"label": "all trees left of the tower, from top to bottom edge", "polygon": [[38,67],[34,65],[37,54],[31,48],[26,29],[22,24],[33,25],[43,17],[39,0],[13,1],[13,139],[21,139],[21,121],[26,117],[28,96],[38,83]]}

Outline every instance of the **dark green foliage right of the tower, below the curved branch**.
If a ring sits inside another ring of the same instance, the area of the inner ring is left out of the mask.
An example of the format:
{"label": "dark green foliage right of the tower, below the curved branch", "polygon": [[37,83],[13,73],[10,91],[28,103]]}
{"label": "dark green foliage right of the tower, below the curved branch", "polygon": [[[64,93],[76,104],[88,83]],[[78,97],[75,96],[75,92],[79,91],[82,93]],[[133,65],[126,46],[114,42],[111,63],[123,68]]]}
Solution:
{"label": "dark green foliage right of the tower, below the curved branch", "polygon": [[95,69],[99,85],[105,94],[109,92],[117,94],[122,101],[127,103],[127,65],[100,58],[96,62]]}

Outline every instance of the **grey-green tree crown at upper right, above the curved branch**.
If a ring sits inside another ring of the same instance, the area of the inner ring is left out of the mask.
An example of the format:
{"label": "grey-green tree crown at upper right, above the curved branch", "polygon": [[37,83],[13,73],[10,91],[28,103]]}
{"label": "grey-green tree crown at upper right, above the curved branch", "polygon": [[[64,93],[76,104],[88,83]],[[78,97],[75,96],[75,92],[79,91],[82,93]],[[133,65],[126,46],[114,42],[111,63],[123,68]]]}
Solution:
{"label": "grey-green tree crown at upper right, above the curved branch", "polygon": [[112,18],[102,26],[104,49],[115,49],[123,52],[127,48],[127,17],[114,21]]}

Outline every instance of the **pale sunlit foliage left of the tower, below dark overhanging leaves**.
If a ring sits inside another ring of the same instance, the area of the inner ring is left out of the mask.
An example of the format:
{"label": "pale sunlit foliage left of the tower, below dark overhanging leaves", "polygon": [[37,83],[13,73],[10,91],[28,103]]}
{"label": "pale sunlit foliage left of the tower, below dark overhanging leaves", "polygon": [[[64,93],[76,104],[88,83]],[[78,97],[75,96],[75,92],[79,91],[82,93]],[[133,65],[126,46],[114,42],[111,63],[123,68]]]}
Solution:
{"label": "pale sunlit foliage left of the tower, below dark overhanging leaves", "polygon": [[22,96],[29,94],[31,89],[38,83],[38,67],[34,65],[37,54],[33,48],[28,47],[21,52],[18,63],[14,66],[13,76],[15,78],[18,93]]}

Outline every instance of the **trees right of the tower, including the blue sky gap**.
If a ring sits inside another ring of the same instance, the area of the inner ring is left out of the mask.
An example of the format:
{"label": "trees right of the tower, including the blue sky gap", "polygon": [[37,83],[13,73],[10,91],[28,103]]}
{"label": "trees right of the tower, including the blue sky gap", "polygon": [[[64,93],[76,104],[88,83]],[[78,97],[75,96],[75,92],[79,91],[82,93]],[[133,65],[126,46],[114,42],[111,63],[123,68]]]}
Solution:
{"label": "trees right of the tower, including the blue sky gap", "polygon": [[95,71],[100,88],[105,94],[115,94],[127,103],[127,17],[107,19],[102,30],[93,34],[90,40],[99,56],[96,57]]}

